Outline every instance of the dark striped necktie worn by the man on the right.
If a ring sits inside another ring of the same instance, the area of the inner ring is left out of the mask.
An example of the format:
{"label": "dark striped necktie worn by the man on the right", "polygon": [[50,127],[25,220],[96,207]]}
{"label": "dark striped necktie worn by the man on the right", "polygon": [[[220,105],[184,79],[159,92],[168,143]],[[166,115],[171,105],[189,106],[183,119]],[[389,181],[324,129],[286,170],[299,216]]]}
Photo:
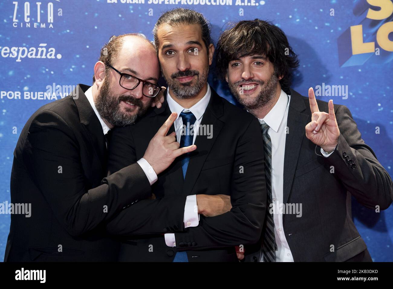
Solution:
{"label": "dark striped necktie worn by the man on the right", "polygon": [[275,262],[275,251],[277,244],[275,243],[274,236],[274,219],[273,214],[270,214],[270,204],[272,203],[272,141],[268,134],[269,126],[263,122],[261,123],[263,135],[263,151],[265,155],[265,179],[266,179],[266,217],[265,217],[265,232],[263,238],[263,261]]}

